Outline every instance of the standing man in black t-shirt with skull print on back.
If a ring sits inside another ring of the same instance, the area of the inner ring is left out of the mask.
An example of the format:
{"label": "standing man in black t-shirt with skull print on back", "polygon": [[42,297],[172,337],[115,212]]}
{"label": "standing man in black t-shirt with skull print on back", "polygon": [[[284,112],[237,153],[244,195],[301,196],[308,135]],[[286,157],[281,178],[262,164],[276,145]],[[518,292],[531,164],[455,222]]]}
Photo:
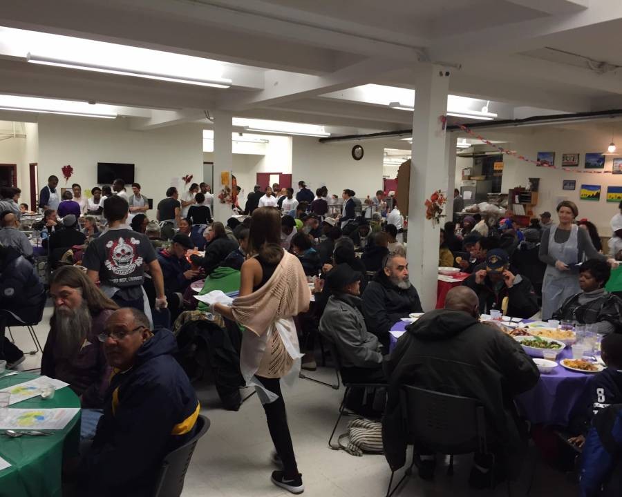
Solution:
{"label": "standing man in black t-shirt with skull print on back", "polygon": [[149,238],[126,228],[128,204],[114,195],[106,199],[104,217],[108,230],[88,245],[82,265],[93,282],[121,307],[134,307],[151,316],[147,295],[142,289],[145,264],[156,289],[156,309],[167,306],[162,269]]}

